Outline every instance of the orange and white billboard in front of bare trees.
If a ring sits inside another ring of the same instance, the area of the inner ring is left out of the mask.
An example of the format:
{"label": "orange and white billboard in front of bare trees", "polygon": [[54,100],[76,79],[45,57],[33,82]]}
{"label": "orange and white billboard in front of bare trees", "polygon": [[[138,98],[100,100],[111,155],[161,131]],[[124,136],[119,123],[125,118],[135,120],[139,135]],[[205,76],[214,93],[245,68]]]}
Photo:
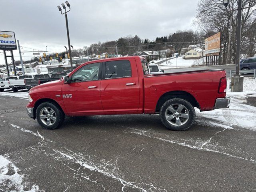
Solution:
{"label": "orange and white billboard in front of bare trees", "polygon": [[220,32],[205,39],[205,55],[213,56],[220,54]]}

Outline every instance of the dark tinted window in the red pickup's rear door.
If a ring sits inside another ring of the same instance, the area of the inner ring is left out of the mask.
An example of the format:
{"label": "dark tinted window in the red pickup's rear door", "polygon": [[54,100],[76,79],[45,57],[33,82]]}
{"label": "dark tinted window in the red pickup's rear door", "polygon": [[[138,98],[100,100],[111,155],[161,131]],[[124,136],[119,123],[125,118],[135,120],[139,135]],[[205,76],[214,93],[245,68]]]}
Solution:
{"label": "dark tinted window in the red pickup's rear door", "polygon": [[128,60],[109,61],[105,65],[105,79],[131,77],[132,68]]}

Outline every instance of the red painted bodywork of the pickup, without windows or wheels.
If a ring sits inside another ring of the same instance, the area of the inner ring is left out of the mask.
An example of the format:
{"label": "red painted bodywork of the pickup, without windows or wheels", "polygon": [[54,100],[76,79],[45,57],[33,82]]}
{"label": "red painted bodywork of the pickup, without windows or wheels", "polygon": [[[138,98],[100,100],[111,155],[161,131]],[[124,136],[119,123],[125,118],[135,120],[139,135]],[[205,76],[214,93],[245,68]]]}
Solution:
{"label": "red painted bodywork of the pickup, without windows or wheels", "polygon": [[[102,79],[65,84],[58,80],[36,86],[30,90],[33,102],[27,107],[34,107],[40,99],[56,101],[68,116],[103,115],[103,114],[154,114],[159,98],[170,91],[184,91],[191,94],[201,111],[213,110],[216,98],[224,98],[226,93],[226,72],[194,71],[169,74],[143,74],[140,56],[102,59],[82,64],[102,64],[106,61],[129,60],[132,76]],[[104,69],[103,69],[104,70]],[[128,84],[128,85],[126,85]],[[88,88],[95,86],[95,88]],[[224,92],[224,93],[218,93]],[[72,94],[72,98],[62,95]]]}

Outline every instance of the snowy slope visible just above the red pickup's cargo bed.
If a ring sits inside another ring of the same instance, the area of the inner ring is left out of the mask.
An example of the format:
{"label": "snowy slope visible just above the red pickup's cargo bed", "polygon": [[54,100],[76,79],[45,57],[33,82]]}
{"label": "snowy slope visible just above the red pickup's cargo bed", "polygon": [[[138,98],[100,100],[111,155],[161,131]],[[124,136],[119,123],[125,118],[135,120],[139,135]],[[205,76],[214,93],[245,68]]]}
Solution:
{"label": "snowy slope visible just above the red pickup's cargo bed", "polygon": [[167,64],[166,63],[162,63],[160,64],[160,68],[161,69],[170,69],[170,68],[176,68],[177,66],[177,62],[178,61],[178,68],[182,68],[182,67],[190,67],[190,66],[197,66],[197,65],[201,65],[205,62],[204,58],[201,59],[182,59],[182,57],[179,57],[178,60],[176,58],[168,60]]}

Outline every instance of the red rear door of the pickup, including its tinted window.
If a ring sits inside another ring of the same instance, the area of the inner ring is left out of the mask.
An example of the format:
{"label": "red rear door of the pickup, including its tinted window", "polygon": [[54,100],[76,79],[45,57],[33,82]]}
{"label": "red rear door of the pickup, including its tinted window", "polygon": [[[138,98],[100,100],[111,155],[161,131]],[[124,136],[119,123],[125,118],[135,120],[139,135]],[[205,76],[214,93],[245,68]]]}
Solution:
{"label": "red rear door of the pickup, including its tinted window", "polygon": [[100,95],[104,112],[112,114],[138,111],[139,81],[133,58],[103,63]]}

